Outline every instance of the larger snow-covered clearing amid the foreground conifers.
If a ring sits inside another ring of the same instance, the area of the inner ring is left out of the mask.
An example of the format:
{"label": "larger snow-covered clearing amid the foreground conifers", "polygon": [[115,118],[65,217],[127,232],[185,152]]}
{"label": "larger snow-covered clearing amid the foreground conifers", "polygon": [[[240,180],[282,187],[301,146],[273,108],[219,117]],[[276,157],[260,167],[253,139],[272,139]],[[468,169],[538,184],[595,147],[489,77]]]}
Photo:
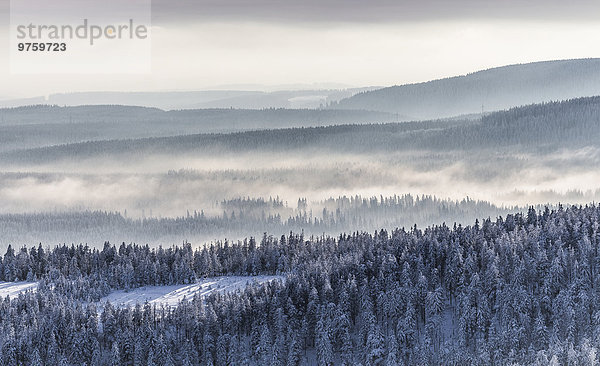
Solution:
{"label": "larger snow-covered clearing amid the foreground conifers", "polygon": [[244,289],[252,283],[266,283],[274,280],[284,281],[284,276],[224,276],[205,278],[191,285],[145,286],[129,291],[111,292],[100,300],[100,307],[107,301],[115,306],[135,306],[136,303],[164,304],[170,307],[185,297],[192,299],[196,293],[207,296],[214,292],[232,292]]}

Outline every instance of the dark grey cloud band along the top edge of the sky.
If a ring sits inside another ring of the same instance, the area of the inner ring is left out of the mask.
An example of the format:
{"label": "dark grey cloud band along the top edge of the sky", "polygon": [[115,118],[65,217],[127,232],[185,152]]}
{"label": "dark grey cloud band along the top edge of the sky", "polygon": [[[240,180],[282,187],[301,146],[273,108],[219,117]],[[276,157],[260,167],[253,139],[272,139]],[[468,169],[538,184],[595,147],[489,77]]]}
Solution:
{"label": "dark grey cloud band along the top edge of the sky", "polygon": [[410,22],[597,19],[597,0],[154,0],[158,24],[182,21]]}

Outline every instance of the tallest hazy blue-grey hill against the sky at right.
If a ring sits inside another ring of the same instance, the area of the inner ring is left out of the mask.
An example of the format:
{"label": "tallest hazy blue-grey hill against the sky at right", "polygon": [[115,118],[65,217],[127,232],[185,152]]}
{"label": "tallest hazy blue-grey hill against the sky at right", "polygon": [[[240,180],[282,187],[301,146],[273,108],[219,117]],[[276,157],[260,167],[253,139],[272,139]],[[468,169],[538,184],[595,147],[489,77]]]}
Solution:
{"label": "tallest hazy blue-grey hill against the sky at right", "polygon": [[400,113],[414,119],[450,117],[600,95],[600,59],[535,62],[366,91],[336,109]]}

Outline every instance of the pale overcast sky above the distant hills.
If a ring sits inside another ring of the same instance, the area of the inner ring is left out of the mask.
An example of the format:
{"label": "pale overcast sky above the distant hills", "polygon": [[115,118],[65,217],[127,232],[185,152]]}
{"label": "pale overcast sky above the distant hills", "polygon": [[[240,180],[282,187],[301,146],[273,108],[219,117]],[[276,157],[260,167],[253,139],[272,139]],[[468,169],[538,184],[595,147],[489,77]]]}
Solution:
{"label": "pale overcast sky above the distant hills", "polygon": [[[0,44],[8,45],[8,0],[0,0],[0,15]],[[393,85],[598,57],[599,15],[597,0],[155,0],[151,74],[11,75],[5,46],[0,99],[232,84]]]}

